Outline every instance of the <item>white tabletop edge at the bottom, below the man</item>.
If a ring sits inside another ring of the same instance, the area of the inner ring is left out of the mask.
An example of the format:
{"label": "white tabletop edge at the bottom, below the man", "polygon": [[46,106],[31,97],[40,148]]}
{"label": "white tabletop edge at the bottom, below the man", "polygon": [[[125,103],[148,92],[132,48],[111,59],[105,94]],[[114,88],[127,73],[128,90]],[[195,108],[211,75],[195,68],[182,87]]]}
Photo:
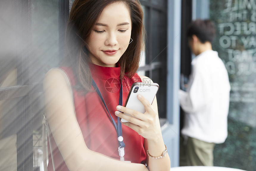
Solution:
{"label": "white tabletop edge at the bottom, below the man", "polygon": [[171,167],[171,171],[244,171],[244,170],[234,169],[229,167],[216,167],[216,166],[182,166],[182,167]]}

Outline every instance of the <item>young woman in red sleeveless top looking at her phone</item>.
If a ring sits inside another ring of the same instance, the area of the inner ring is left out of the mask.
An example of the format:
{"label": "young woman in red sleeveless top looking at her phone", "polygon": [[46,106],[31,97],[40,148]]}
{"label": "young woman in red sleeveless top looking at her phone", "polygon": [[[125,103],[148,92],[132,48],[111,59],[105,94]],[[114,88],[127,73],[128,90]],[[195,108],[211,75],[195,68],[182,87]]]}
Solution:
{"label": "young woman in red sleeveless top looking at her phone", "polygon": [[65,65],[43,82],[56,170],[170,170],[156,99],[138,97],[145,113],[122,106],[131,85],[149,79],[136,73],[142,45],[137,0],[74,1]]}

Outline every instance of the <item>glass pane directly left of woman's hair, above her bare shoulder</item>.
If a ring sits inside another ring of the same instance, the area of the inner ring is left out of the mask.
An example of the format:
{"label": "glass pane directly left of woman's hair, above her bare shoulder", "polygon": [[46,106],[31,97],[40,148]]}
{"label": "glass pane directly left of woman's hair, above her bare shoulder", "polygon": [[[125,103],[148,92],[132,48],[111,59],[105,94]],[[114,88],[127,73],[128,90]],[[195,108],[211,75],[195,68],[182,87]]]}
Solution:
{"label": "glass pane directly left of woman's hair, above her bare shoulder", "polygon": [[33,82],[60,61],[59,0],[32,0]]}

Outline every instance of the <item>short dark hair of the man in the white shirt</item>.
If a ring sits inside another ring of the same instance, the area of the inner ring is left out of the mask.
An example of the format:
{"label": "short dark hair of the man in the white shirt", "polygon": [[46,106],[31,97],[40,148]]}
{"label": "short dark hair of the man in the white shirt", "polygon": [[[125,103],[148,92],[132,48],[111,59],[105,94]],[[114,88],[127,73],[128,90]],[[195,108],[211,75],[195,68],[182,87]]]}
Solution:
{"label": "short dark hair of the man in the white shirt", "polygon": [[205,43],[206,41],[211,43],[215,37],[215,25],[209,19],[196,19],[195,21],[192,21],[188,26],[188,38],[192,38],[192,35],[196,35],[201,43]]}

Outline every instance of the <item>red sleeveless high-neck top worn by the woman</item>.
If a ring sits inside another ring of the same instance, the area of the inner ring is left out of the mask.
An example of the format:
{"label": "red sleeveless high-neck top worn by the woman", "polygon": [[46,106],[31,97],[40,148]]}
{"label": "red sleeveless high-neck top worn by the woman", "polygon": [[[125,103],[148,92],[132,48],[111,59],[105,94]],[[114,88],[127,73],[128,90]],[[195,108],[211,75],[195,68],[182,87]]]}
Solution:
{"label": "red sleeveless high-neck top worn by the woman", "polygon": [[[104,104],[102,103],[96,91],[80,95],[74,85],[76,78],[73,75],[70,67],[61,67],[68,75],[74,96],[74,105],[77,116],[77,121],[82,131],[85,144],[87,147],[95,152],[102,153],[109,157],[120,159],[118,155],[118,140],[115,126],[110,118]],[[102,67],[95,64],[90,65],[92,78],[96,82],[102,97],[107,105],[107,108],[117,123],[117,116],[114,112],[119,103],[120,92],[120,67]],[[141,82],[141,78],[137,73],[132,78],[124,77],[122,80],[123,86],[123,105],[129,94],[129,90],[134,82]],[[91,90],[94,90],[91,86]],[[132,163],[146,164],[146,152],[144,150],[144,138],[138,135],[137,132],[127,126],[122,125],[122,133],[125,143],[126,161]],[[52,139],[54,149],[54,163],[56,171],[68,171],[68,168],[57,148],[57,145]],[[52,170],[51,153],[48,142],[49,164],[48,170]]]}

